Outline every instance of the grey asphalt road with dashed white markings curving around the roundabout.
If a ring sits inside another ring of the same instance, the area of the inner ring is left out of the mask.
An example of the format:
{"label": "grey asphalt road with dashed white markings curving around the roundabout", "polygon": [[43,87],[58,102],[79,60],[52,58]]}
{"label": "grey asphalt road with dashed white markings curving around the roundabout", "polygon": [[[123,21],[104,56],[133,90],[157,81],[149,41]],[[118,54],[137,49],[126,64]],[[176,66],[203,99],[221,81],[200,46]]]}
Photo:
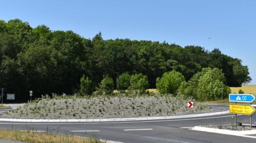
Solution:
{"label": "grey asphalt road with dashed white markings curving around the roundabout", "polygon": [[[249,116],[238,115],[238,121],[249,123]],[[256,114],[253,115],[253,122],[256,122]],[[0,129],[39,130],[67,135],[94,136],[103,140],[124,143],[256,143],[255,138],[190,130],[191,127],[196,125],[223,123],[235,123],[234,114],[198,118],[99,123],[0,122]]]}

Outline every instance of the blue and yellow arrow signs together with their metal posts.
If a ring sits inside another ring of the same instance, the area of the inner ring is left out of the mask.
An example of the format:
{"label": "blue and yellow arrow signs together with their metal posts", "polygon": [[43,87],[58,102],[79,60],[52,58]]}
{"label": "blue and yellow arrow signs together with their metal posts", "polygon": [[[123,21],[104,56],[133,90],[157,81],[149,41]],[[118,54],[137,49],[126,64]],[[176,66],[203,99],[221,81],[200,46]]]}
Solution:
{"label": "blue and yellow arrow signs together with their metal posts", "polygon": [[[229,101],[235,102],[235,104],[229,105],[230,113],[235,113],[235,125],[237,125],[237,114],[250,115],[250,122],[252,127],[252,114],[255,112],[255,108],[251,103],[255,100],[252,94],[229,94]],[[250,105],[236,104],[237,102],[250,103]]]}

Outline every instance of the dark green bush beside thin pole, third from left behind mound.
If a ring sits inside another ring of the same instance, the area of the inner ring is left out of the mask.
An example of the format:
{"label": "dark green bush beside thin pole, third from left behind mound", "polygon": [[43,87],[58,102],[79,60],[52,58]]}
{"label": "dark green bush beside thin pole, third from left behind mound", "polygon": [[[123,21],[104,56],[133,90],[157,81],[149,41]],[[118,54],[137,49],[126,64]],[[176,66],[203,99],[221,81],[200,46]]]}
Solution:
{"label": "dark green bush beside thin pole, third from left behind mound", "polygon": [[117,87],[119,90],[126,90],[131,84],[131,75],[128,73],[122,73],[117,80]]}

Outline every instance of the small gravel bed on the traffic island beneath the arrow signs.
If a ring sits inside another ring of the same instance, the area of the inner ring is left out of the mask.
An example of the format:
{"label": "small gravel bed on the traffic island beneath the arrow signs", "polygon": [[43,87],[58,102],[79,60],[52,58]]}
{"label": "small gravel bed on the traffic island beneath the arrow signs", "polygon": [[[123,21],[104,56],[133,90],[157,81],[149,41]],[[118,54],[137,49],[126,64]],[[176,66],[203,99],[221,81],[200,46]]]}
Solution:
{"label": "small gravel bed on the traffic island beneath the arrow signs", "polygon": [[222,124],[222,125],[201,125],[201,127],[206,128],[218,128],[218,129],[224,129],[224,130],[256,130],[256,126],[252,126],[252,128],[249,125],[237,125],[235,124]]}

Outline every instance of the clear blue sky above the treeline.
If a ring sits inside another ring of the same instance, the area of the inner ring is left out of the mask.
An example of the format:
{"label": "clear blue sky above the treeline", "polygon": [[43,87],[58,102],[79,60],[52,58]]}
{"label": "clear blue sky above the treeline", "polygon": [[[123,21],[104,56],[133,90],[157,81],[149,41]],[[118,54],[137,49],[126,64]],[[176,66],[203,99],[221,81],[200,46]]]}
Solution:
{"label": "clear blue sky above the treeline", "polygon": [[[200,45],[243,60],[256,84],[255,0],[4,0],[0,20],[73,30],[84,38]],[[210,38],[211,39],[208,39]]]}

